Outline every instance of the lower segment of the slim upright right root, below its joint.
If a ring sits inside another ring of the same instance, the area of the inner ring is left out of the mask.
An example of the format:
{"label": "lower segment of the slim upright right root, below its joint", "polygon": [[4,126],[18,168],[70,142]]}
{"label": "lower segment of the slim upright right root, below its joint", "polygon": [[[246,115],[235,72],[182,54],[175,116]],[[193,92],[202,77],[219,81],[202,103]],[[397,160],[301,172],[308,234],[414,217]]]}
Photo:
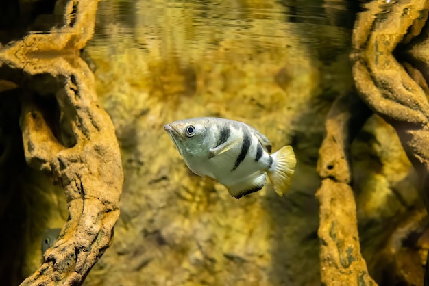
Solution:
{"label": "lower segment of the slim upright right root, below its joint", "polygon": [[320,201],[320,267],[324,285],[377,285],[360,254],[356,203],[352,187],[324,179]]}

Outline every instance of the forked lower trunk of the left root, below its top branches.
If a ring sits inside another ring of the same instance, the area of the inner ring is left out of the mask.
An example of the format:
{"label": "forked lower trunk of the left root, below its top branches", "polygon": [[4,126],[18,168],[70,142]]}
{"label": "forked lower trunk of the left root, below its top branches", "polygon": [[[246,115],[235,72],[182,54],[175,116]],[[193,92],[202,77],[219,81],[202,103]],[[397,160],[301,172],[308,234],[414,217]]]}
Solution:
{"label": "forked lower trunk of the left root, below its top branches", "polygon": [[[45,172],[60,184],[69,204],[69,220],[40,269],[22,285],[62,281],[83,282],[90,268],[110,246],[112,229],[119,217],[123,172],[121,154],[108,114],[93,100],[95,94],[79,75],[64,77],[64,89],[56,92],[62,123],[69,125],[73,140],[57,140],[38,107],[23,101],[21,129],[27,164]],[[59,142],[62,141],[62,142]],[[73,144],[71,147],[64,142]]]}

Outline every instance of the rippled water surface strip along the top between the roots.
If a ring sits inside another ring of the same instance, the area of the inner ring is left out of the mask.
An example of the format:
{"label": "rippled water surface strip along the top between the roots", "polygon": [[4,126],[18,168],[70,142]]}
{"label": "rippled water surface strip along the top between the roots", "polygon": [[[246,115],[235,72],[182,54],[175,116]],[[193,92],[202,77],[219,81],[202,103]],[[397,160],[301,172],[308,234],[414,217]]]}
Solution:
{"label": "rippled water surface strip along the top between the roots", "polygon": [[90,44],[129,41],[156,57],[210,60],[210,51],[249,47],[332,55],[350,44],[353,22],[345,1],[101,1]]}

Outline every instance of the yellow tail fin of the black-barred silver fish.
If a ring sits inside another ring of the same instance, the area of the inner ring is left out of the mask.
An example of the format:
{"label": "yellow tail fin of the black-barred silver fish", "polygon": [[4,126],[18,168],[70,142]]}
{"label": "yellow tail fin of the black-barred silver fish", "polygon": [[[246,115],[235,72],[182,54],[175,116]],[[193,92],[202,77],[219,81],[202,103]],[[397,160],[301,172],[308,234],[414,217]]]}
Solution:
{"label": "yellow tail fin of the black-barred silver fish", "polygon": [[292,146],[284,146],[279,151],[271,154],[271,157],[273,158],[273,164],[267,174],[275,192],[279,196],[283,196],[292,183],[297,159],[295,153],[293,153]]}

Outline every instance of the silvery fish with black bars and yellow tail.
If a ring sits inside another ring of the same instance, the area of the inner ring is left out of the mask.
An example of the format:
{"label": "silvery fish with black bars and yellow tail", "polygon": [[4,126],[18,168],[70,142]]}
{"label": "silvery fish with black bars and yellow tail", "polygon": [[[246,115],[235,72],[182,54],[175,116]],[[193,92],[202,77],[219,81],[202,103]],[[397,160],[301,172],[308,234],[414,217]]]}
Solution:
{"label": "silvery fish with black bars and yellow tail", "polygon": [[278,196],[291,185],[296,165],[292,146],[270,154],[270,140],[245,122],[188,118],[168,123],[164,130],[192,172],[225,186],[234,198],[261,190],[267,176]]}

